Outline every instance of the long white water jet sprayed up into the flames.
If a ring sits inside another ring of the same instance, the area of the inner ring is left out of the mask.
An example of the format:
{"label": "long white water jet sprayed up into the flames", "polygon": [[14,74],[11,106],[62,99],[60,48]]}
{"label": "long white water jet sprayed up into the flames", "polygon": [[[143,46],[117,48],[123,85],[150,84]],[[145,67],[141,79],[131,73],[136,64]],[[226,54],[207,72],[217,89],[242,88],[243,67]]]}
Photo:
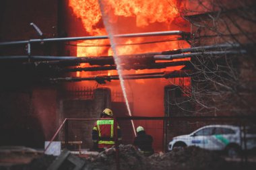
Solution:
{"label": "long white water jet sprayed up into the flames", "polygon": [[[119,75],[121,89],[123,91],[123,97],[125,98],[125,104],[127,106],[128,114],[129,114],[129,116],[132,116],[131,115],[131,109],[129,107],[129,101],[128,101],[128,98],[127,98],[127,93],[125,91],[125,81],[124,81],[123,76],[122,76],[121,65],[120,65],[120,58],[118,58],[118,54],[117,54],[116,43],[115,43],[115,36],[113,34],[113,30],[112,30],[110,24],[108,24],[109,18],[108,18],[108,15],[106,15],[106,13],[104,11],[104,4],[100,0],[98,0],[98,3],[100,5],[100,11],[102,13],[103,23],[104,23],[104,26],[106,28],[106,32],[108,34],[108,38],[110,40],[110,45],[111,45],[111,48],[112,48],[112,50],[114,52],[113,58],[115,60],[115,64],[117,65],[117,74]],[[131,120],[131,125],[133,126],[133,132],[134,132],[134,135],[136,136],[136,131],[135,131],[135,126],[134,126],[133,120]]]}

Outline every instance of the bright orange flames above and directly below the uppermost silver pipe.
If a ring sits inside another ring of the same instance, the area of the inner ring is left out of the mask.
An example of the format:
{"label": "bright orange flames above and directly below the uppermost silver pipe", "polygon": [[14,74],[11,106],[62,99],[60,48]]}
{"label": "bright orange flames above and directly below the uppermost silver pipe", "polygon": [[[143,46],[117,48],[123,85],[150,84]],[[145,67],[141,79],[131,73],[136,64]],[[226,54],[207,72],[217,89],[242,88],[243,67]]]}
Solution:
{"label": "bright orange flames above and directly below the uppermost silver pipe", "polygon": [[[115,28],[117,28],[115,29],[116,34],[170,30],[170,24],[177,16],[179,16],[177,2],[174,0],[112,0],[103,1],[102,3],[104,3],[104,10],[110,16],[110,20],[108,22],[114,26],[115,24],[117,25],[115,26]],[[82,19],[82,24],[88,35],[106,35],[106,30],[102,24],[102,15],[100,13],[98,0],[69,0],[69,6],[73,9],[75,16]],[[158,26],[160,28],[157,28]],[[120,43],[139,43],[143,42],[144,39],[145,38],[133,38],[129,40],[122,40]],[[148,38],[148,40],[156,40],[156,38]],[[90,47],[93,44],[98,44],[98,46]],[[77,56],[105,55],[106,48],[110,47],[102,47],[102,44],[109,44],[109,41],[94,40],[80,42],[77,44]],[[172,43],[172,47],[174,44],[176,45],[175,48],[177,48],[177,43]],[[164,46],[168,46],[168,48],[165,48]],[[153,46],[146,47],[119,46],[118,54],[148,52],[148,49],[152,51],[170,50],[170,43],[161,43],[159,45],[154,44]],[[107,51],[108,54],[111,54],[111,52],[109,52],[110,50]]]}

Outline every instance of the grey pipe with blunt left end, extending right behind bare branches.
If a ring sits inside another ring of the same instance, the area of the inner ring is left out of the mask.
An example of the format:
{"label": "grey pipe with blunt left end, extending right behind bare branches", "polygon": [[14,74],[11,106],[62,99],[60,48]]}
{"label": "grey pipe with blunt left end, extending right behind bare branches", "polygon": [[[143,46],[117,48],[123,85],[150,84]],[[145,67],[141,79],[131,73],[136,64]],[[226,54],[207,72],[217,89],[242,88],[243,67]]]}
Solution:
{"label": "grey pipe with blunt left end, extending right behind bare branches", "polygon": [[221,55],[221,54],[245,54],[246,50],[227,50],[227,51],[211,51],[211,52],[193,52],[186,54],[172,54],[172,55],[155,55],[155,60],[172,60],[177,58],[187,58],[191,56],[201,56],[201,55]]}

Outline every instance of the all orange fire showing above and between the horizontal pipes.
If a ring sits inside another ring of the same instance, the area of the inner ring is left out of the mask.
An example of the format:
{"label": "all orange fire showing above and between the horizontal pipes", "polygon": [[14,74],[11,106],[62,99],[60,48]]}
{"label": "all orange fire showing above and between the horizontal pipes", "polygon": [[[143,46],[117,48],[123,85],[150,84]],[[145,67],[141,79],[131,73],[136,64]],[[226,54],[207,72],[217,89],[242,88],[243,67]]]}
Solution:
{"label": "all orange fire showing above and between the horizontal pipes", "polygon": [[[166,30],[189,31],[189,27],[180,28],[177,26],[177,22],[181,22],[178,10],[181,8],[181,2],[178,0],[100,0],[100,3],[103,4],[104,11],[108,15],[107,22],[113,28],[112,34]],[[81,20],[86,36],[105,36],[107,34],[102,22],[104,18],[102,18],[98,0],[69,0],[68,5],[75,17]],[[116,40],[117,54],[161,52],[189,46],[185,41],[168,41],[170,38],[173,38],[173,36],[120,38]],[[113,55],[113,50],[110,48],[109,40],[85,40],[77,42],[76,53],[77,56],[106,56]],[[84,67],[90,67],[90,65],[84,65]],[[174,71],[181,68],[168,67],[161,69],[161,71]],[[150,70],[125,71],[128,74],[151,72]],[[116,73],[116,71],[81,72],[77,73],[77,76],[114,75]],[[137,83],[141,82],[144,81],[137,81]]]}

